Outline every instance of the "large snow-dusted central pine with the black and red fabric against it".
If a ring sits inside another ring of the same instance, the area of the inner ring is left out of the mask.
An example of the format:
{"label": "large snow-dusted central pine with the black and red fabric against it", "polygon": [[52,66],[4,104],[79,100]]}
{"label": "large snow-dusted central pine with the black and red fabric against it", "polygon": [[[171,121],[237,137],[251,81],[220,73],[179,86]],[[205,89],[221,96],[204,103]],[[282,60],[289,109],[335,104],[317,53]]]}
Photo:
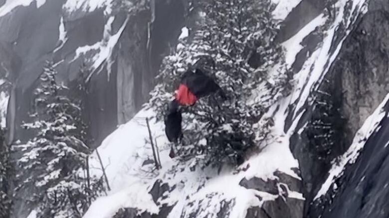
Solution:
{"label": "large snow-dusted central pine with the black and red fabric against it", "polygon": [[[163,60],[149,105],[157,118],[163,118],[182,73],[195,63],[194,68],[215,78],[229,100],[222,102],[211,95],[183,108],[188,123],[181,157],[201,156],[205,165],[237,163],[246,149],[258,143],[256,135],[268,132],[268,128],[254,128],[265,108],[263,102],[250,99],[259,84],[268,84],[269,68],[282,57],[273,40],[278,28],[271,14],[274,4],[271,0],[201,0],[198,6],[199,30],[181,39],[176,51]],[[257,69],[248,64],[253,53],[261,57]]]}

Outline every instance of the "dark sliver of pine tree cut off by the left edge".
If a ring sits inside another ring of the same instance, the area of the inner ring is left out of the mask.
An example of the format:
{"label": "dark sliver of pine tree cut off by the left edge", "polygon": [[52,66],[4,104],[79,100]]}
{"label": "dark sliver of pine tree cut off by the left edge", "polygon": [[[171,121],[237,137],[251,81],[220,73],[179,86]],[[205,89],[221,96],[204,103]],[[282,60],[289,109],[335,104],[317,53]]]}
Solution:
{"label": "dark sliver of pine tree cut off by the left edge", "polygon": [[9,149],[5,143],[4,129],[0,128],[0,217],[10,217],[12,205],[9,196],[9,179],[11,173],[11,164],[9,161]]}

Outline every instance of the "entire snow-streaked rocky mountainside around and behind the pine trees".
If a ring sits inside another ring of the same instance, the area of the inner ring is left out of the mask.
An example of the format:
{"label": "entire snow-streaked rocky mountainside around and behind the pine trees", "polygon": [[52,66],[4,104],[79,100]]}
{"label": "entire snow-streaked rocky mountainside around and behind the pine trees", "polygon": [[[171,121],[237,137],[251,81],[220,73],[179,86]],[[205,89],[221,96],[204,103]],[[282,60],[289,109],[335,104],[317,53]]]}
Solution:
{"label": "entire snow-streaked rocky mountainside around and behind the pine trees", "polygon": [[[85,218],[388,218],[389,1],[273,2],[292,91],[258,122],[273,121],[271,137],[219,171],[171,159],[163,122],[153,119],[155,169],[146,127],[155,112],[142,107],[182,27],[195,29],[189,1],[0,0],[9,144],[31,137],[20,125],[45,62],[65,84],[84,65],[84,120],[112,188]],[[90,163],[101,176],[96,153]],[[26,200],[13,212],[34,218]]]}

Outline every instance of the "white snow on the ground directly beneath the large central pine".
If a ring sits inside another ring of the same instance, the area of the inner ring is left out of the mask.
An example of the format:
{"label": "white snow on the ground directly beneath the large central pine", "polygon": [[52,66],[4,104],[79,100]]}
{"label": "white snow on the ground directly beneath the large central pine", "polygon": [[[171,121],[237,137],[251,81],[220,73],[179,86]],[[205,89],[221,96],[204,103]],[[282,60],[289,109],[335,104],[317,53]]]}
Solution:
{"label": "white snow on the ground directly beneath the large central pine", "polygon": [[[286,109],[287,102],[282,104],[282,109]],[[276,125],[274,131],[282,130],[284,110],[279,110],[276,114]],[[164,136],[162,123],[151,121],[151,130],[153,138],[157,140],[160,148],[160,157],[163,168],[152,172],[153,164],[142,166],[147,159],[152,159],[151,146],[145,143],[149,138],[146,127],[146,117],[151,117],[152,111],[141,111],[129,123],[119,127],[110,135],[98,148],[106,166],[108,180],[112,191],[109,196],[97,200],[88,210],[84,218],[109,218],[112,217],[120,208],[137,208],[140,213],[148,211],[149,213],[158,213],[158,207],[153,202],[148,193],[151,186],[158,179],[168,183],[171,187],[181,185],[174,190],[169,198],[161,203],[174,205],[179,202],[170,214],[170,218],[180,217],[183,207],[188,203],[187,196],[191,196],[191,201],[204,199],[206,195],[218,193],[218,198],[213,198],[210,205],[216,206],[222,200],[235,199],[239,205],[234,207],[231,215],[233,217],[244,217],[247,208],[252,206],[261,206],[264,201],[274,200],[278,196],[265,192],[248,190],[239,185],[243,178],[250,179],[259,177],[264,180],[275,179],[275,171],[285,172],[293,177],[299,176],[291,170],[292,167],[298,167],[297,160],[293,158],[289,150],[289,136],[282,131],[275,137],[262,152],[253,156],[241,165],[241,168],[248,169],[239,171],[238,169],[224,169],[217,175],[215,169],[196,169],[191,171],[193,163],[180,164],[175,159],[169,157],[169,144]],[[96,156],[91,160],[91,165],[100,174],[99,162]],[[179,173],[175,169],[179,168]],[[210,178],[210,179],[209,179]],[[228,181],[228,182],[225,182]],[[204,188],[197,192],[201,186]],[[262,197],[259,201],[256,196]],[[303,199],[301,193],[290,193],[293,198]],[[104,205],[104,207],[103,207]],[[107,207],[109,205],[109,207]],[[188,209],[187,209],[188,210]],[[213,214],[217,212],[216,208],[209,208],[204,214]]]}

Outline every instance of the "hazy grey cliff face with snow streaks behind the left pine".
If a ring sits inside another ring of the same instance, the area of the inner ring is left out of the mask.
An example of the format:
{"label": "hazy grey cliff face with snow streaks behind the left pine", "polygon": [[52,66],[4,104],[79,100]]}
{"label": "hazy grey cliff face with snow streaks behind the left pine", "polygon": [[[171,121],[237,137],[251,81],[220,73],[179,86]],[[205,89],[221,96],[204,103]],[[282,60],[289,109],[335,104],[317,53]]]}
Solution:
{"label": "hazy grey cliff face with snow streaks behind the left pine", "polygon": [[[53,61],[67,84],[86,64],[91,75],[85,113],[94,146],[99,145],[148,98],[159,64],[185,21],[181,0],[135,6],[128,1],[127,7],[114,1],[9,2],[1,8],[0,73],[13,86],[7,117],[10,142],[29,138],[20,124],[28,120],[35,80],[45,62]],[[136,12],[129,11],[133,6]]]}

